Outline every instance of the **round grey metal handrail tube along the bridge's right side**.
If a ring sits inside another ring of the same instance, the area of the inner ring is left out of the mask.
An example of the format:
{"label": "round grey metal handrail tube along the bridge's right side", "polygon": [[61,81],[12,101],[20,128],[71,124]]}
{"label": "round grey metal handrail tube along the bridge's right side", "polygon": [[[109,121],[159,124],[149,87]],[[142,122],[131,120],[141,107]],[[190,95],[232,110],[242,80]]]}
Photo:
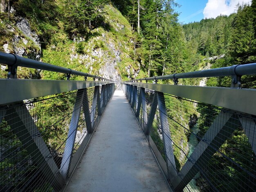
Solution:
{"label": "round grey metal handrail tube along the bridge's right side", "polygon": [[221,67],[217,69],[208,69],[202,71],[193,71],[179,74],[171,74],[164,76],[153,76],[146,78],[139,78],[125,82],[141,81],[141,80],[163,80],[163,79],[181,79],[181,78],[200,78],[200,77],[221,77],[221,76],[243,76],[255,75],[256,63],[245,65],[233,65],[231,67]]}

